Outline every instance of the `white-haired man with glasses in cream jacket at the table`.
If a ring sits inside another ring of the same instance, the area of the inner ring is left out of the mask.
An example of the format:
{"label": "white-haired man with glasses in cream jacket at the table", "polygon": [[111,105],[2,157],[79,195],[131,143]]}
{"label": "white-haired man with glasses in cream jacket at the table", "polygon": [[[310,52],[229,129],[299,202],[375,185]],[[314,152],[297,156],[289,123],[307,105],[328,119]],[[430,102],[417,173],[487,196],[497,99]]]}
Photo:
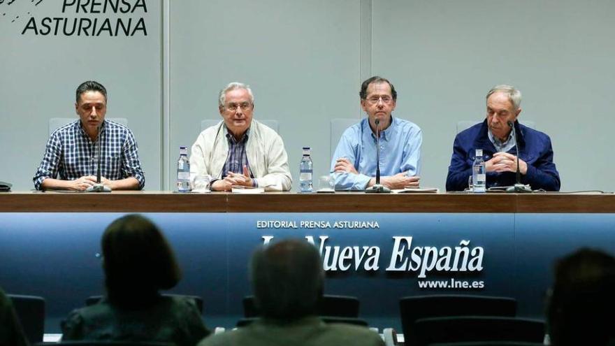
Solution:
{"label": "white-haired man with glasses in cream jacket at the table", "polygon": [[248,85],[231,82],[218,96],[222,121],[196,138],[190,155],[190,176],[196,189],[231,191],[231,187],[263,187],[288,191],[292,186],[282,138],[252,119],[254,94]]}

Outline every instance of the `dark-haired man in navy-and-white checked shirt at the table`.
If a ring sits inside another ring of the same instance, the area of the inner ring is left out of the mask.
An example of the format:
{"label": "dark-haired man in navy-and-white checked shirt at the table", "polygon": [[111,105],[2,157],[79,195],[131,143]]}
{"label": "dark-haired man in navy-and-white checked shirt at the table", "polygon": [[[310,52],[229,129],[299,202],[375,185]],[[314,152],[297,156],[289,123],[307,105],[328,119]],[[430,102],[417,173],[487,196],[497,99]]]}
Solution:
{"label": "dark-haired man in navy-and-white checked shirt at the table", "polygon": [[84,191],[96,184],[101,145],[101,184],[115,190],[143,189],[145,175],[132,131],[105,120],[105,87],[99,82],[83,82],[76,96],[79,120],[60,127],[50,136],[33,178],[34,187]]}

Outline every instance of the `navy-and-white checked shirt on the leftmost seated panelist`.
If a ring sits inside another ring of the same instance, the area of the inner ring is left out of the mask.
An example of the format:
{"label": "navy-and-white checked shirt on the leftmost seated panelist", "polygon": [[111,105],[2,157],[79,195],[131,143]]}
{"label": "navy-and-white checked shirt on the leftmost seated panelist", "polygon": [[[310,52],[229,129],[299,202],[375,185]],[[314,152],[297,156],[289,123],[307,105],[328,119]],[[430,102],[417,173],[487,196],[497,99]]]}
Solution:
{"label": "navy-and-white checked shirt on the leftmost seated panelist", "polygon": [[101,147],[101,176],[110,180],[133,177],[139,189],[145,186],[145,175],[139,162],[137,142],[132,131],[122,124],[105,120],[101,134],[92,141],[75,120],[51,134],[45,156],[32,180],[37,190],[45,178],[75,180],[98,171],[98,145]]}

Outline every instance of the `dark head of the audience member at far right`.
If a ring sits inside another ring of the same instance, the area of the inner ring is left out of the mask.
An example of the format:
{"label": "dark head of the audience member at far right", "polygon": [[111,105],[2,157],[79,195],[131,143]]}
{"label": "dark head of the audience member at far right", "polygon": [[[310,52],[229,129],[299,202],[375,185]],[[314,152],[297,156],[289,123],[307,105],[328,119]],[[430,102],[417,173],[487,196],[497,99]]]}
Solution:
{"label": "dark head of the audience member at far right", "polygon": [[551,345],[608,345],[614,297],[615,257],[584,248],[560,259],[547,308]]}

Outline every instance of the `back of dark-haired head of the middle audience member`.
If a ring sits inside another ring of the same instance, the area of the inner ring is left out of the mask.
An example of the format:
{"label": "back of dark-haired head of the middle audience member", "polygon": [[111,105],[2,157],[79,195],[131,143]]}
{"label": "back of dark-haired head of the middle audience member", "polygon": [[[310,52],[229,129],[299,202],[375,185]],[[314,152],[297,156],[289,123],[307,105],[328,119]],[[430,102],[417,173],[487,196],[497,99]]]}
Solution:
{"label": "back of dark-haired head of the middle audience member", "polygon": [[290,322],[316,314],[324,271],[314,245],[287,239],[266,245],[252,257],[254,301],[263,317]]}

